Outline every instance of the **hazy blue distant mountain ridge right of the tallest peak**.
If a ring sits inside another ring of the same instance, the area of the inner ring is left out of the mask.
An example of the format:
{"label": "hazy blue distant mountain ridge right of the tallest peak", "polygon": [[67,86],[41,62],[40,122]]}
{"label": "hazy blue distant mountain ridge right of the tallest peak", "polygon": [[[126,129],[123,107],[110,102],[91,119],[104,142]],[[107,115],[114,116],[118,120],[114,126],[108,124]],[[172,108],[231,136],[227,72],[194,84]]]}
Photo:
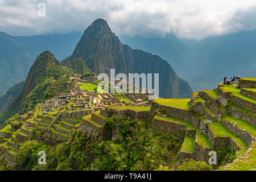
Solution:
{"label": "hazy blue distant mountain ridge right of the tallest peak", "polygon": [[256,30],[212,36],[201,41],[121,36],[124,43],[168,60],[193,90],[213,89],[225,76],[255,77]]}

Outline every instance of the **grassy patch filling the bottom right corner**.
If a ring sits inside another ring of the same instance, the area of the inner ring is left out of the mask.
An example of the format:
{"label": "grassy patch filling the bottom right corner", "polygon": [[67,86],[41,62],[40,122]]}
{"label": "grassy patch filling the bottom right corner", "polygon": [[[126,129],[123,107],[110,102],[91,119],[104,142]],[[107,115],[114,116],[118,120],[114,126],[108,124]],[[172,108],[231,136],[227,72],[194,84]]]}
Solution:
{"label": "grassy patch filling the bottom right corner", "polygon": [[251,146],[251,150],[244,158],[239,158],[233,162],[229,167],[221,168],[220,170],[228,171],[250,171],[256,168],[256,142]]}

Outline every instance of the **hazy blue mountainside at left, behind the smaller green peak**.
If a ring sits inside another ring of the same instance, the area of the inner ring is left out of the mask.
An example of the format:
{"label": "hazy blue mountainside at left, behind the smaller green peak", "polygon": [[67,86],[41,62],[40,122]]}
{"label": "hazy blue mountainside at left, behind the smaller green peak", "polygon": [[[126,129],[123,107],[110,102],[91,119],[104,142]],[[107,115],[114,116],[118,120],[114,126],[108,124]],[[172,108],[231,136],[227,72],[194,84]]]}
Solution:
{"label": "hazy blue mountainside at left, behind the smaller green peak", "polygon": [[55,52],[59,60],[71,55],[82,32],[36,36],[11,36],[0,32],[0,95],[26,80],[29,68],[45,50]]}

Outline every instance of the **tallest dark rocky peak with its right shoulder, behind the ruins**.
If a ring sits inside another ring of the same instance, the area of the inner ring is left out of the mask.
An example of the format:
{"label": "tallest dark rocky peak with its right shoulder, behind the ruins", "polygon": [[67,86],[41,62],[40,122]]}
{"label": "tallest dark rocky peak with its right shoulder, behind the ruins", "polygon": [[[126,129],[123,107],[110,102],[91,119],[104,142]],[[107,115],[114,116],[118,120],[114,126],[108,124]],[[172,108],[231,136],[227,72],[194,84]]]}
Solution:
{"label": "tallest dark rocky peak with its right shoulder, behind the ruins", "polygon": [[84,32],[69,60],[81,58],[99,73],[159,73],[159,94],[166,98],[191,97],[189,84],[159,56],[123,45],[104,19],[95,20]]}

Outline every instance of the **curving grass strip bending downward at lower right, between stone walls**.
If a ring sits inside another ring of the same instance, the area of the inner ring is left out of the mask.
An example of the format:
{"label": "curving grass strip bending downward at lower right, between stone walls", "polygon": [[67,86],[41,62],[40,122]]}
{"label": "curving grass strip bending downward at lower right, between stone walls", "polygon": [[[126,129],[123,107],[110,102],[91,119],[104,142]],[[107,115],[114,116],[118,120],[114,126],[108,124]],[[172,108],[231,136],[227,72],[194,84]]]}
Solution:
{"label": "curving grass strip bending downward at lower right, between stone walls", "polygon": [[228,129],[226,129],[226,127],[224,127],[222,125],[221,121],[212,123],[208,126],[210,127],[210,129],[212,129],[212,132],[213,132],[214,136],[216,136],[216,137],[230,137],[230,138],[236,140],[236,143],[241,148],[240,151],[237,154],[237,157],[245,154],[246,151],[248,150],[249,147],[248,147],[247,143],[245,141],[243,141],[240,137],[237,137],[236,135],[231,133]]}

